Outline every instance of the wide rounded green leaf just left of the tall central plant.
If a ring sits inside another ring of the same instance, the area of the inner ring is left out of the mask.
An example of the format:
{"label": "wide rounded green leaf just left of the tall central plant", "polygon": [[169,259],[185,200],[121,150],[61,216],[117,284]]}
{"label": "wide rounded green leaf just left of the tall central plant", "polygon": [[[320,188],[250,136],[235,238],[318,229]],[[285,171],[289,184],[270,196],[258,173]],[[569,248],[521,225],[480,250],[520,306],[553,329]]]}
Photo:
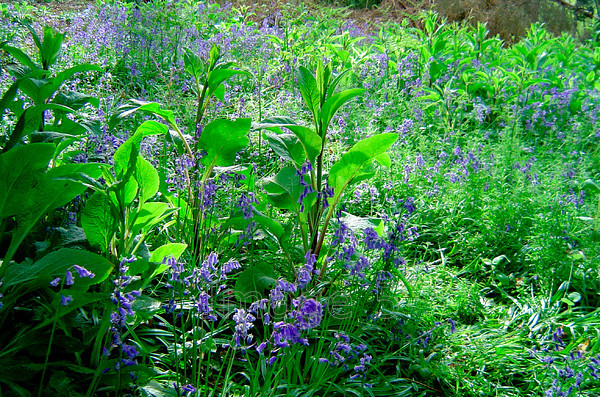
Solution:
{"label": "wide rounded green leaf just left of the tall central plant", "polygon": [[250,142],[250,119],[217,119],[204,127],[200,147],[206,151],[202,164],[206,166],[229,166],[235,162],[237,153]]}

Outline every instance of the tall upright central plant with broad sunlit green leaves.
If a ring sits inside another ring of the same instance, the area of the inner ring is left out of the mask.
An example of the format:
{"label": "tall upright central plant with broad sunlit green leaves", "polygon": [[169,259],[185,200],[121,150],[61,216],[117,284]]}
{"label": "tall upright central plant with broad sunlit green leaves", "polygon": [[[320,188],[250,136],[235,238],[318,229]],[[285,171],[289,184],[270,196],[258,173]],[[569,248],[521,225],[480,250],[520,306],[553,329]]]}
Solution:
{"label": "tall upright central plant with broad sunlit green leaves", "polygon": [[[294,166],[281,169],[265,180],[266,198],[276,207],[291,210],[298,221],[305,251],[317,257],[345,189],[375,174],[373,161],[389,166],[386,151],[397,135],[386,133],[356,143],[328,170],[325,156],[328,151],[328,129],[336,112],[349,100],[361,95],[360,88],[336,92],[348,73],[333,76],[330,65],[319,62],[316,74],[305,67],[298,70],[298,87],[313,119],[312,128],[297,124],[288,117],[263,120],[257,127],[275,132],[267,134],[271,148]],[[291,132],[284,133],[282,128]],[[325,270],[326,261],[323,261]]]}

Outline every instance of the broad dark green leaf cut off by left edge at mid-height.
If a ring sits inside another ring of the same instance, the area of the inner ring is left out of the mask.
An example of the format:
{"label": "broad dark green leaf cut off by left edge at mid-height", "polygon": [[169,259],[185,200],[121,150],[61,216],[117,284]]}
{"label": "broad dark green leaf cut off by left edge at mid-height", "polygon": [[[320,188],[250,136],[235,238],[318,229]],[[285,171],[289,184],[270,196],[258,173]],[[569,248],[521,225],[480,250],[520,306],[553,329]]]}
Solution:
{"label": "broad dark green leaf cut off by left edge at mid-height", "polygon": [[32,143],[0,154],[0,219],[33,204],[33,192],[53,155],[52,143]]}

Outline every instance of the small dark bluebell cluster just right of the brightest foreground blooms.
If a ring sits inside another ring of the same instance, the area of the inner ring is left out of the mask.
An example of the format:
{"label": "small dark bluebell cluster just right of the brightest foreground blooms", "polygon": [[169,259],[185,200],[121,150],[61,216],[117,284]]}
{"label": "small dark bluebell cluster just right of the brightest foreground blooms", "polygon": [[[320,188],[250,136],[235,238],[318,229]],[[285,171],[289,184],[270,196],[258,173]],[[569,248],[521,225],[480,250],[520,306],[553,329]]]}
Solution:
{"label": "small dark bluebell cluster just right of the brightest foreground blooms", "polygon": [[[334,333],[335,343],[329,351],[328,357],[319,358],[319,362],[329,364],[330,367],[343,368],[349,372],[349,379],[366,379],[367,366],[373,356],[367,354],[364,343],[351,343],[350,337],[343,332]],[[365,384],[366,387],[371,387]]]}

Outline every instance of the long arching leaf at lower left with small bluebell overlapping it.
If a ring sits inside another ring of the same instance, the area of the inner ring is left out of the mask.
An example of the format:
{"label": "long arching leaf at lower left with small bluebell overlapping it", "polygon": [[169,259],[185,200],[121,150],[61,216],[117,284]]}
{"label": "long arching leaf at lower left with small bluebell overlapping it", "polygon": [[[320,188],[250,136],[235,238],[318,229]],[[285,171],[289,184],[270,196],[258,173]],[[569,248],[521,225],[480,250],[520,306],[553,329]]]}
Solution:
{"label": "long arching leaf at lower left with small bluebell overlapping it", "polygon": [[73,271],[75,283],[70,287],[86,291],[90,285],[99,284],[106,280],[112,268],[112,263],[100,255],[74,248],[61,248],[44,256],[32,265],[12,263],[4,278],[5,287],[27,285],[28,287],[47,286],[56,277],[64,277],[65,272],[73,265],[79,265],[94,273],[94,278],[79,278]]}

